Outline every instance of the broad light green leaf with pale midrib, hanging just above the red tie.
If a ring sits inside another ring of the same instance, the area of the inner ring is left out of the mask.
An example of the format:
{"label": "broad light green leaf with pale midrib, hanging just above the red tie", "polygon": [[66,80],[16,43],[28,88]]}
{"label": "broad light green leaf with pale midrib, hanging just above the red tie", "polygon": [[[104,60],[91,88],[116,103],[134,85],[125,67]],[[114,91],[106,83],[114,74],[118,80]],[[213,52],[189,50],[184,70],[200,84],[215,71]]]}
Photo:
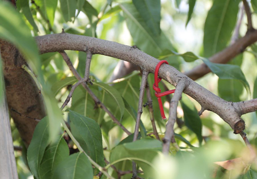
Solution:
{"label": "broad light green leaf with pale midrib, hanging just above the red tie", "polygon": [[128,30],[136,46],[145,53],[158,57],[162,50],[174,50],[170,40],[163,34],[154,35],[133,4],[120,4]]}

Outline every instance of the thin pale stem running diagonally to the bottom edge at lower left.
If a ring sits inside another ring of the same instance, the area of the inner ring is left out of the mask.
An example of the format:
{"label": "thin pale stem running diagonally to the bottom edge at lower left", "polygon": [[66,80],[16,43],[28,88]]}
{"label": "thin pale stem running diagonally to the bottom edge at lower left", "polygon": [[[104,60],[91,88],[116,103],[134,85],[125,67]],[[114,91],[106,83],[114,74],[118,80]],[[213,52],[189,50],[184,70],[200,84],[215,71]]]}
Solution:
{"label": "thin pale stem running diagonally to the bottom edge at lower left", "polygon": [[107,172],[106,169],[98,165],[93,159],[90,158],[90,156],[87,155],[87,153],[83,150],[83,148],[80,146],[79,142],[75,139],[75,137],[72,135],[70,132],[69,128],[67,127],[66,123],[64,120],[61,121],[64,130],[68,133],[70,139],[75,143],[75,145],[78,147],[80,152],[83,152],[86,156],[87,159],[90,161],[92,165],[94,165],[99,171],[101,171],[107,178],[115,179],[114,177],[110,176]]}

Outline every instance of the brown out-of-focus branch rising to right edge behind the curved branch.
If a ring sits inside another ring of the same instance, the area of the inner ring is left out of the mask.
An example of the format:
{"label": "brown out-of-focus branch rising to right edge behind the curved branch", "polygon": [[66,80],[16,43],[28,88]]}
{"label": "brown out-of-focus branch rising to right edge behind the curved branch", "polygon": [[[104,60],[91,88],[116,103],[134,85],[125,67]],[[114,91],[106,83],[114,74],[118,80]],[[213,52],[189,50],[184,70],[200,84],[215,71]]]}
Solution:
{"label": "brown out-of-focus branch rising to right edge behind the curved branch", "polygon": [[[227,47],[221,52],[216,53],[209,60],[213,63],[227,63],[228,61],[232,60],[238,54],[244,52],[244,50],[257,41],[257,31],[252,29],[248,31],[246,35],[240,39],[238,39],[235,43],[231,44],[231,46]],[[202,63],[192,70],[185,72],[184,74],[187,75],[192,80],[197,80],[200,77],[211,72],[208,66],[205,63]]]}

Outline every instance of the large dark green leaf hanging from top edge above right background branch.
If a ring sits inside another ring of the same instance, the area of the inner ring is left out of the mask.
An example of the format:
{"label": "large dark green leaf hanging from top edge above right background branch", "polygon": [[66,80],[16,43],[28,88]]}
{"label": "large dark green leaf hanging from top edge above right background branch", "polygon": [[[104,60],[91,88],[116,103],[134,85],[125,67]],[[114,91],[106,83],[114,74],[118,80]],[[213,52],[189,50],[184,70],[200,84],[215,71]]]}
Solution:
{"label": "large dark green leaf hanging from top edge above right background branch", "polygon": [[234,30],[240,0],[215,0],[204,28],[204,54],[210,57],[223,50]]}

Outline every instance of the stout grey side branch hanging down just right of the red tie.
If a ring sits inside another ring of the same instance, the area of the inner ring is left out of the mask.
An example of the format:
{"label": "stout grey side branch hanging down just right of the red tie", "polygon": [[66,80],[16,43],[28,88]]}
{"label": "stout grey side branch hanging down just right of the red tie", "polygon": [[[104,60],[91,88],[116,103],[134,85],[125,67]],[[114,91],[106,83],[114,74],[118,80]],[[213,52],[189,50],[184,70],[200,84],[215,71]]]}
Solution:
{"label": "stout grey side branch hanging down just right of the red tie", "polygon": [[[163,139],[162,152],[164,154],[169,154],[170,143],[176,143],[174,140],[174,124],[177,118],[177,105],[178,101],[182,97],[183,90],[186,87],[185,81],[181,80],[177,83],[175,93],[170,102],[170,111],[169,111],[169,121],[166,126],[166,133]],[[179,148],[178,148],[179,149]]]}

